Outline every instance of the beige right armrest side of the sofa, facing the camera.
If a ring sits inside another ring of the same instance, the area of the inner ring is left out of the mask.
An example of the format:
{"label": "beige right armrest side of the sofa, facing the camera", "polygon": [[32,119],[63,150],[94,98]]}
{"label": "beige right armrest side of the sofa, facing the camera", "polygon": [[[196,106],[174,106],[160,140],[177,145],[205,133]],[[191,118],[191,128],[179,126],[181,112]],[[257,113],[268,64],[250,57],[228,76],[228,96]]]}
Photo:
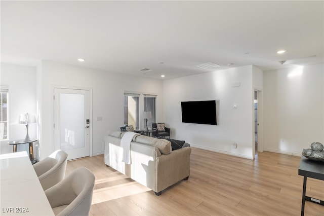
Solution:
{"label": "beige right armrest side of the sofa, facing the camera", "polygon": [[160,192],[190,175],[191,148],[186,147],[161,155],[156,160],[156,188]]}

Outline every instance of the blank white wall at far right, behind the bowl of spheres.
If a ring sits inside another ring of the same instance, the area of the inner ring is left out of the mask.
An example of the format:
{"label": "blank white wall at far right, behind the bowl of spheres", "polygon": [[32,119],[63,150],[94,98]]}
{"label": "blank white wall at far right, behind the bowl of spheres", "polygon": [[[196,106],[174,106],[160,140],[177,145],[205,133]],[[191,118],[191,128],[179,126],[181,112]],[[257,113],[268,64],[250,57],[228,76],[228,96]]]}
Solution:
{"label": "blank white wall at far right, behind the bowl of spheres", "polygon": [[323,64],[264,73],[264,151],[301,155],[324,143]]}

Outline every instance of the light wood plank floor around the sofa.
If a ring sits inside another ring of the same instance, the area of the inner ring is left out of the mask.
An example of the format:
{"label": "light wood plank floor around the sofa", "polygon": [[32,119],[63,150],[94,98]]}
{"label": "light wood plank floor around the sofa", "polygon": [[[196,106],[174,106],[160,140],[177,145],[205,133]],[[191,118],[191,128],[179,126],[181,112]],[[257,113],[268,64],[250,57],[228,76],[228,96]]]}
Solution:
{"label": "light wood plank floor around the sofa", "polygon": [[[300,157],[259,153],[249,160],[192,148],[190,176],[156,196],[104,164],[103,155],[69,161],[96,176],[91,215],[300,215]],[[307,196],[324,200],[324,181],[307,179]],[[324,215],[307,202],[305,216]]]}

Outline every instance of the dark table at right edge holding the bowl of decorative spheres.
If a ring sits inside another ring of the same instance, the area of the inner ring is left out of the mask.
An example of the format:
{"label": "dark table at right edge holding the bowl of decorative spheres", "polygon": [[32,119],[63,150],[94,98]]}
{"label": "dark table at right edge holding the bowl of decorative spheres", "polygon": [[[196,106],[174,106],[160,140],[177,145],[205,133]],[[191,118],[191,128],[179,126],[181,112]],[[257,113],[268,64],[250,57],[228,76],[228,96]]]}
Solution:
{"label": "dark table at right edge holding the bowl of decorative spheres", "polygon": [[307,177],[316,178],[324,181],[324,163],[319,161],[312,161],[302,156],[299,163],[298,174],[304,176],[303,200],[301,211],[301,215],[303,216],[306,200],[320,205],[324,205],[324,201],[306,196]]}

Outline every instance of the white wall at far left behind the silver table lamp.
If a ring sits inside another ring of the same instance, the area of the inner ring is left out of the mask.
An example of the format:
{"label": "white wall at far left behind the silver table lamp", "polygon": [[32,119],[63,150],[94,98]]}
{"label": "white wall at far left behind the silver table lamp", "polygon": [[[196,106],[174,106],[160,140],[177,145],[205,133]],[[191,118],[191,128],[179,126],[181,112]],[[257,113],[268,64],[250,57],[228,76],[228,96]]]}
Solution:
{"label": "white wall at far left behind the silver table lamp", "polygon": [[[1,63],[0,85],[9,86],[9,140],[0,144],[0,154],[13,151],[8,141],[24,139],[26,126],[18,124],[20,114],[36,113],[36,68]],[[29,125],[29,137],[36,138],[37,124]],[[37,156],[37,143],[34,143]],[[27,151],[28,144],[18,145],[17,151]]]}

